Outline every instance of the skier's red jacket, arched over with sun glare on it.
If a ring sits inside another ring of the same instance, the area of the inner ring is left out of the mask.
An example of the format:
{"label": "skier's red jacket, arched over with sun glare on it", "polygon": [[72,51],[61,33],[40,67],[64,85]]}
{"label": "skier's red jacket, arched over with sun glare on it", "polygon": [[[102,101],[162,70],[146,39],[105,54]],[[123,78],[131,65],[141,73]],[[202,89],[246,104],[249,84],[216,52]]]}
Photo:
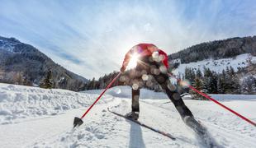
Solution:
{"label": "skier's red jacket, arched over with sun glare on it", "polygon": [[152,56],[152,53],[158,52],[159,55],[163,55],[162,62],[164,63],[164,66],[168,68],[168,56],[166,53],[164,53],[163,50],[156,47],[154,44],[137,44],[133,48],[131,48],[128,53],[126,53],[126,57],[124,59],[124,62],[122,64],[122,67],[127,67],[130,58],[133,54],[137,53],[140,57],[146,57],[146,56]]}

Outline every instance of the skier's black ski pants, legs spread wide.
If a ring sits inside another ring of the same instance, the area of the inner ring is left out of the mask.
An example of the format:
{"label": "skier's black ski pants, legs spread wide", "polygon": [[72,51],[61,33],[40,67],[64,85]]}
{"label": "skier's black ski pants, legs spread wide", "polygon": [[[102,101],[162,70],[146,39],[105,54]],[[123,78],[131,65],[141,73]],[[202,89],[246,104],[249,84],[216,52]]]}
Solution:
{"label": "skier's black ski pants, legs spread wide", "polygon": [[140,112],[140,88],[144,85],[153,85],[152,78],[159,83],[163,90],[165,90],[168,98],[171,99],[175,108],[182,118],[186,116],[193,117],[192,112],[184,104],[183,99],[178,93],[177,86],[174,86],[168,79],[168,74],[164,71],[162,62],[150,61],[150,58],[142,58],[135,67],[135,72],[131,74],[132,85],[132,104],[133,112]]}

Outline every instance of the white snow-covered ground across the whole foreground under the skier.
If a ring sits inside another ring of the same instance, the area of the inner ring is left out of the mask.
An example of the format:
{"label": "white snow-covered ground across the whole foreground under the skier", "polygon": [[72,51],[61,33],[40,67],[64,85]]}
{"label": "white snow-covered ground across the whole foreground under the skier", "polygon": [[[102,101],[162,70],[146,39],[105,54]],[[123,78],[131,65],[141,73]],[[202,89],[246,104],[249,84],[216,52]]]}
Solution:
{"label": "white snow-covered ground across the whole foreground under the skier", "polygon": [[[83,118],[83,125],[73,130],[73,118],[80,117],[99,93],[0,84],[0,146],[206,147],[164,93],[142,90],[139,120],[172,134],[176,141],[109,113],[107,108],[124,114],[130,111],[128,86],[107,91]],[[246,97],[221,102],[256,121],[256,97]],[[185,104],[219,146],[256,147],[256,128],[249,123],[211,101],[185,100]]]}

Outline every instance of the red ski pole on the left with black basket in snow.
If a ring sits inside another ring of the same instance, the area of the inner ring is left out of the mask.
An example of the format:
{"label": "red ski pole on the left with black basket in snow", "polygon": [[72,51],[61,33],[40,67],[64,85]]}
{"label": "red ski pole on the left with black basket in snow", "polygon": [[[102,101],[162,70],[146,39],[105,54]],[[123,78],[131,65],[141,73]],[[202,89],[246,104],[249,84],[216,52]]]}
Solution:
{"label": "red ski pole on the left with black basket in snow", "polygon": [[73,120],[73,127],[76,127],[77,125],[80,126],[81,124],[83,124],[83,120],[82,119],[84,118],[84,116],[92,109],[93,105],[96,104],[99,99],[101,99],[102,95],[107,91],[107,89],[109,89],[109,87],[116,81],[116,79],[120,75],[121,75],[121,72],[119,72],[118,75],[105,88],[105,90],[102,91],[102,94],[97,97],[97,99],[93,102],[93,104],[89,107],[89,109],[87,109],[87,111],[85,113],[83,113],[83,116],[81,118],[78,118],[78,117],[74,118],[74,120]]}

